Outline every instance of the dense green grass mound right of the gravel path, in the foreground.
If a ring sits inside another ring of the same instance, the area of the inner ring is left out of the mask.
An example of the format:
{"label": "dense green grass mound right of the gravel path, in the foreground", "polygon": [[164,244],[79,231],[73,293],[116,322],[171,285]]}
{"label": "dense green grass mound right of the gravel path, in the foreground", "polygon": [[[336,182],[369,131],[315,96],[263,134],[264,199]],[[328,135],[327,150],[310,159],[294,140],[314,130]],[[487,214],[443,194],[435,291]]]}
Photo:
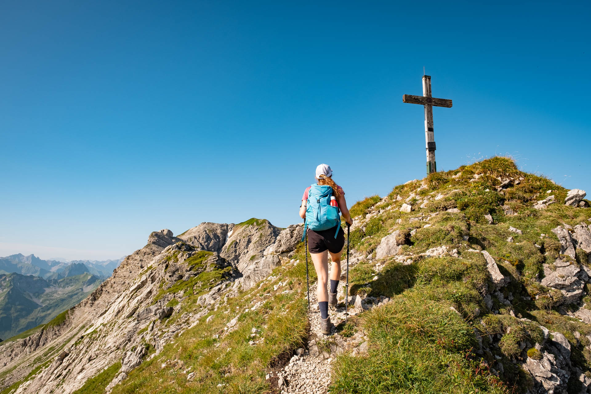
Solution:
{"label": "dense green grass mound right of the gravel path, in the foreground", "polygon": [[466,359],[475,336],[449,304],[425,302],[413,293],[367,312],[363,324],[369,353],[336,359],[331,392],[506,392]]}

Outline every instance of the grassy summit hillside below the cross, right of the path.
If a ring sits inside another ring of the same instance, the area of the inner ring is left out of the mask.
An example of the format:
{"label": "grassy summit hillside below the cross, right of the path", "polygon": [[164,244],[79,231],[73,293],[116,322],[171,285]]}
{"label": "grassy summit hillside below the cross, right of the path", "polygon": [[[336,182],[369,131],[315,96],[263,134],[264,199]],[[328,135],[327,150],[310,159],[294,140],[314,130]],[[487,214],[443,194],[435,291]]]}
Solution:
{"label": "grassy summit hillside below the cross, right of the path", "polygon": [[[505,178],[514,180],[501,188]],[[550,194],[556,203],[534,209]],[[544,341],[540,325],[564,334],[571,360],[591,375],[585,337],[591,326],[567,316],[577,307],[561,305],[561,293],[539,283],[543,263],[551,265],[560,250],[551,229],[591,217],[589,208],[565,206],[566,194],[496,157],[355,204],[351,211],[363,223],[351,240],[367,258],[350,272],[351,292],[392,301],[356,319],[369,332],[369,354],[337,359],[336,392],[524,392],[533,382],[520,363],[540,353],[534,348]],[[404,203],[413,210],[400,211]],[[404,244],[400,256],[372,258],[382,237],[394,230]],[[456,253],[424,254],[442,245]],[[488,251],[511,278],[500,289],[511,302],[492,297],[492,308],[486,306],[489,278],[479,250]],[[577,263],[587,264],[580,252]],[[570,379],[569,392],[577,388],[580,382]]]}

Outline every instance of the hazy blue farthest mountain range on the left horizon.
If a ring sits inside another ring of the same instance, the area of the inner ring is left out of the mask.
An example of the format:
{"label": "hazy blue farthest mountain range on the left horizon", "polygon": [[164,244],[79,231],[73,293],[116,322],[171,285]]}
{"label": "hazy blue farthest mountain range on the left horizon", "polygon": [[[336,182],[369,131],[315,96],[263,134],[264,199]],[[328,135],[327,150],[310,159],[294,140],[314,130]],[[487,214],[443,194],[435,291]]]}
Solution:
{"label": "hazy blue farthest mountain range on the left horizon", "polygon": [[24,256],[21,253],[0,257],[0,273],[20,273],[34,275],[43,279],[61,279],[88,272],[97,278],[106,279],[124,258],[116,260],[43,260],[35,255]]}

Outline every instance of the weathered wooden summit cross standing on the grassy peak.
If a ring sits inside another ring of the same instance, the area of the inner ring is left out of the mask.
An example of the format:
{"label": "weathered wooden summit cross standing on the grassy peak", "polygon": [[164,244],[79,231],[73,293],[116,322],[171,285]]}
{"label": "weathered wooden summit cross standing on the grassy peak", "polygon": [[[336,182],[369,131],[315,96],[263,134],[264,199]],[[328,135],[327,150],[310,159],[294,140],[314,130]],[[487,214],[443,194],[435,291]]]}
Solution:
{"label": "weathered wooden summit cross standing on the grassy peak", "polygon": [[427,149],[427,175],[437,171],[435,163],[435,136],[433,133],[433,106],[452,108],[452,100],[431,96],[431,76],[423,76],[423,96],[402,95],[403,103],[425,106],[425,142]]}

